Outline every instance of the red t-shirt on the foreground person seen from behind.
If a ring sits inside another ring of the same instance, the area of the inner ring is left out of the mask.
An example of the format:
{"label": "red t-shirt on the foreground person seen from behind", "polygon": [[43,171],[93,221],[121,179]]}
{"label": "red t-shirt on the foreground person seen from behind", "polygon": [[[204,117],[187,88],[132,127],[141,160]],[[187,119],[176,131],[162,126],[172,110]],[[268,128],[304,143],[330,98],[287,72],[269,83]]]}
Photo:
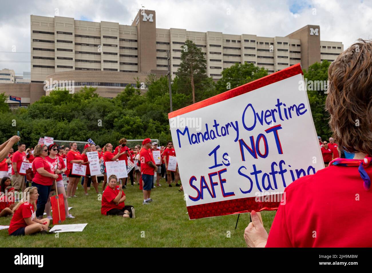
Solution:
{"label": "red t-shirt on the foreground person seen from behind", "polygon": [[[372,177],[372,166],[365,170]],[[357,166],[318,170],[285,193],[266,247],[371,247],[372,191],[363,188]]]}

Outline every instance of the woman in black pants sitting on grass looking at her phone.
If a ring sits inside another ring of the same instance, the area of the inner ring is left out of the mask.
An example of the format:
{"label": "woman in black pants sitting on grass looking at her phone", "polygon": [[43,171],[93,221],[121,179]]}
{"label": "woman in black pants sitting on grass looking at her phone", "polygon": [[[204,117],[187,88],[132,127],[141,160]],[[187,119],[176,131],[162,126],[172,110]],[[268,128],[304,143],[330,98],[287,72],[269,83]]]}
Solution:
{"label": "woman in black pants sitting on grass looking at her phone", "polygon": [[123,192],[123,185],[116,185],[118,178],[116,175],[110,175],[109,186],[102,195],[101,214],[103,215],[120,215],[124,218],[135,218],[134,207],[125,206],[126,199]]}

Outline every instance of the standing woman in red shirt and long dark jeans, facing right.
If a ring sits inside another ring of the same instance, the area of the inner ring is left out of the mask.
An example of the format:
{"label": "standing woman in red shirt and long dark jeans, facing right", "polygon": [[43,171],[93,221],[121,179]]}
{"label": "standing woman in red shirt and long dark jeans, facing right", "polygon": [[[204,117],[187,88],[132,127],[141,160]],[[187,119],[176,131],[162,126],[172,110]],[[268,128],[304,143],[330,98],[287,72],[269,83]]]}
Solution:
{"label": "standing woman in red shirt and long dark jeans, facing right", "polygon": [[39,192],[36,217],[41,219],[44,215],[45,204],[47,204],[53,180],[58,179],[58,174],[54,173],[51,164],[45,159],[48,156],[47,145],[36,145],[33,155],[35,156],[32,162],[34,177],[31,185],[36,187]]}

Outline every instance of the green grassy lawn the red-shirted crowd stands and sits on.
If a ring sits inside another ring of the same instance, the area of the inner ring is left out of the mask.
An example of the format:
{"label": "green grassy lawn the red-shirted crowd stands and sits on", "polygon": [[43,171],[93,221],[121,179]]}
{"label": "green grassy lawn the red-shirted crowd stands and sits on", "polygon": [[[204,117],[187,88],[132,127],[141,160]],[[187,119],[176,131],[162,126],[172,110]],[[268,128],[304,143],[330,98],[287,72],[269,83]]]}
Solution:
{"label": "green grassy lawn the red-shirted crowd stands and sits on", "polygon": [[[68,199],[69,207],[73,207],[70,212],[76,218],[63,224],[88,223],[83,232],[60,233],[58,238],[55,234],[10,237],[8,230],[0,230],[0,247],[246,247],[243,234],[249,214],[240,215],[236,230],[237,215],[190,221],[183,192],[178,187],[169,188],[164,179],[160,184],[151,191],[154,201],[150,205],[142,205],[138,184],[129,184],[124,189],[125,204],[135,207],[136,218],[125,219],[101,215],[101,201],[94,188],[85,196],[79,183],[78,197]],[[262,212],[267,231],[274,216],[275,211]],[[0,225],[9,222],[10,217],[0,218]]]}

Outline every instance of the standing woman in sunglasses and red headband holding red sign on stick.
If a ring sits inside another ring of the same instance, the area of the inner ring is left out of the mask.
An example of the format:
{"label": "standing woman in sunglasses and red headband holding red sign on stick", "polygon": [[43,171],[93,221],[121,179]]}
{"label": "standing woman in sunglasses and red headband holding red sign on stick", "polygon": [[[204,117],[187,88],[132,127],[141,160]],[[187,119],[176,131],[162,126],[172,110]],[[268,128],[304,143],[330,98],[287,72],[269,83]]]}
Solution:
{"label": "standing woman in sunglasses and red headband holding red sign on stick", "polygon": [[[68,202],[67,202],[67,196],[65,191],[65,186],[63,185],[63,179],[62,179],[62,173],[66,172],[66,166],[63,161],[63,158],[58,155],[58,145],[57,144],[50,144],[48,146],[48,156],[45,157],[45,159],[51,164],[51,168],[58,175],[58,178],[56,179],[57,183],[57,192],[58,194],[63,194],[63,200],[65,203],[65,213],[66,218],[74,219],[69,212],[68,212]],[[45,212],[47,213],[47,218],[49,220],[53,220],[53,218],[50,216],[50,198],[52,196],[52,192],[49,194],[48,202],[45,205]]]}

